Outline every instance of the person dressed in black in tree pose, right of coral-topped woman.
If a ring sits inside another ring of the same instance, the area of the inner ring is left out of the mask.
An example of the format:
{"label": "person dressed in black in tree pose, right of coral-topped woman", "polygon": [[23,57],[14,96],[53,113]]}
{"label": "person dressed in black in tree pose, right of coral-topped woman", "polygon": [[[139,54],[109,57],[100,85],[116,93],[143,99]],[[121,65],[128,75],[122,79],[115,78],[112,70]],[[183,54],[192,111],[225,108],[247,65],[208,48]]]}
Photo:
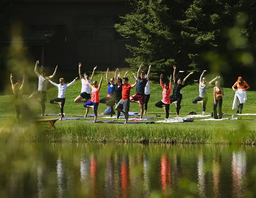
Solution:
{"label": "person dressed in black in tree pose, right of coral-topped woman", "polygon": [[[178,120],[179,114],[180,114],[180,103],[182,100],[182,91],[181,89],[185,86],[188,85],[188,83],[185,83],[188,76],[190,76],[191,74],[193,74],[193,72],[190,72],[183,80],[181,80],[180,73],[184,72],[184,71],[179,71],[178,75],[176,76],[176,66],[173,66],[173,81],[174,81],[174,87],[173,87],[173,92],[172,95],[170,96],[170,102],[171,104],[175,104],[176,105],[176,119]],[[185,84],[183,84],[185,83]]]}

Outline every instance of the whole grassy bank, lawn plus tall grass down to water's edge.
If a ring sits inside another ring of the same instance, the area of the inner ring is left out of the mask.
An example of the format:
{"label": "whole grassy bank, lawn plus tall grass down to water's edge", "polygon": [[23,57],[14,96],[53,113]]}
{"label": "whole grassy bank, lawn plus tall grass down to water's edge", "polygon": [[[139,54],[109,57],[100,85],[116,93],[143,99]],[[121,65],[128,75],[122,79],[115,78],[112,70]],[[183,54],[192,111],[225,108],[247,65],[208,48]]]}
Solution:
{"label": "whole grassy bank, lawn plus tall grass down to water's edge", "polygon": [[[110,73],[109,77],[114,75]],[[124,72],[121,74],[124,75]],[[65,76],[63,76],[65,78]],[[130,83],[134,82],[134,78],[128,75]],[[95,80],[100,80],[99,75],[95,75]],[[105,97],[107,93],[106,79],[103,79],[103,85],[100,90],[100,98]],[[167,80],[167,79],[166,79]],[[236,80],[236,79],[234,79]],[[58,82],[58,79],[54,79],[54,82]],[[50,99],[56,98],[58,90],[50,83],[48,84],[47,91],[47,103],[45,114],[58,114],[60,112],[58,105],[52,105],[49,103]],[[83,105],[75,104],[74,99],[80,94],[81,83],[80,81],[74,83],[68,87],[66,91],[66,103],[64,112],[67,117],[72,115],[84,115],[85,108]],[[200,104],[192,104],[192,100],[198,97],[198,84],[186,86],[182,89],[183,99],[181,102],[180,117],[185,117],[189,112],[195,111],[196,113],[202,113],[202,106]],[[148,104],[148,112],[145,116],[154,117],[155,115],[161,115],[150,121],[164,120],[165,113],[162,109],[155,107],[155,103],[162,99],[162,88],[158,83],[150,83],[150,100]],[[135,88],[132,89],[131,95],[135,93]],[[206,114],[213,112],[213,85],[207,88],[208,102],[206,106]],[[232,103],[234,99],[234,91],[231,88],[224,88],[224,98],[222,111],[227,114],[224,118],[231,118],[232,114],[236,111],[232,110]],[[255,113],[255,92],[247,91],[248,100],[244,104],[243,113]],[[9,129],[15,125],[15,109],[12,103],[12,95],[0,97],[0,126]],[[28,102],[28,96],[23,96],[23,99]],[[34,114],[40,115],[40,106],[38,103],[29,103],[34,108]],[[98,113],[103,113],[106,109],[105,104],[99,105]],[[130,111],[139,112],[140,108],[138,104],[132,103]],[[170,117],[175,117],[176,108],[175,105],[170,107]],[[90,110],[89,114],[93,114]],[[138,116],[133,116],[138,117]],[[254,144],[256,142],[256,116],[238,116],[239,120],[225,120],[225,121],[200,121],[201,118],[194,119],[193,123],[156,123],[156,124],[109,124],[109,123],[85,123],[85,121],[93,120],[91,118],[82,118],[77,120],[65,120],[57,121],[56,129],[52,131],[44,130],[46,124],[43,127],[39,126],[39,129],[34,129],[31,133],[30,123],[24,122],[21,124],[25,128],[25,131],[29,133],[22,133],[22,138],[26,141],[71,141],[71,142],[172,142],[172,143],[242,143],[242,144]],[[40,118],[40,117],[39,117]],[[44,117],[45,118],[45,117]],[[54,116],[47,116],[47,118],[55,118]],[[21,115],[21,120],[25,120],[26,117]],[[38,117],[36,117],[38,119]],[[99,117],[98,119],[105,119]],[[144,121],[146,122],[146,121]]]}

